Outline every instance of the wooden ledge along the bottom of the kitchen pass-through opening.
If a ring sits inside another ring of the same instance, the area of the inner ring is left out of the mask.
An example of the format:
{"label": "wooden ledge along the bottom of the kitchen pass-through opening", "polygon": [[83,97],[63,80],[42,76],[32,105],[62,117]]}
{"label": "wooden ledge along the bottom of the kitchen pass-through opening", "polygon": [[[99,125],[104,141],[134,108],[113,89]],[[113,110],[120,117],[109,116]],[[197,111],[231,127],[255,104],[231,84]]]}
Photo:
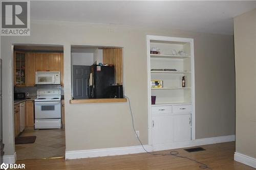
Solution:
{"label": "wooden ledge along the bottom of the kitchen pass-through opening", "polygon": [[70,104],[78,104],[78,103],[116,103],[116,102],[127,102],[126,98],[122,99],[75,99],[70,100]]}

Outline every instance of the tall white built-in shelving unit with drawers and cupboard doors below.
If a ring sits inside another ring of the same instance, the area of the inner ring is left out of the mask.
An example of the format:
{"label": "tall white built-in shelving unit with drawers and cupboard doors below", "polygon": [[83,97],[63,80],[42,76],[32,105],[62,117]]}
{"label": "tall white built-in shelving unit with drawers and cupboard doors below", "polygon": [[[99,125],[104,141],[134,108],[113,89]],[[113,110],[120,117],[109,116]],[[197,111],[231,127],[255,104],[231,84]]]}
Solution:
{"label": "tall white built-in shelving unit with drawers and cupboard doors below", "polygon": [[[163,143],[168,149],[175,142],[195,139],[194,40],[148,35],[147,61],[150,144],[159,150]],[[163,86],[152,88],[151,80],[160,80]],[[151,96],[156,96],[155,105]]]}

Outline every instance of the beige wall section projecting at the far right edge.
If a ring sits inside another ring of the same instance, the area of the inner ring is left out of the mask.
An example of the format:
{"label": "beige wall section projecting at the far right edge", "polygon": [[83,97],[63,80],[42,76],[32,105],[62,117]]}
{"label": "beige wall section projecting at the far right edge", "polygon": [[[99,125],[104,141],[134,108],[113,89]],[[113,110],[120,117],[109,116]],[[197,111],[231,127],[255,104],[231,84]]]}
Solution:
{"label": "beige wall section projecting at the far right edge", "polygon": [[256,10],[234,18],[236,152],[256,158]]}

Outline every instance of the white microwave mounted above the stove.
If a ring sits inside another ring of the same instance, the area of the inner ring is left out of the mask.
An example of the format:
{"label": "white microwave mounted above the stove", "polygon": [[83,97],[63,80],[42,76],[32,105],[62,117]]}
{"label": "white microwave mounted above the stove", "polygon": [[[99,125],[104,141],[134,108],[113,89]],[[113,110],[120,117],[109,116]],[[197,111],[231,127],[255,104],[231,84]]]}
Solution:
{"label": "white microwave mounted above the stove", "polygon": [[60,72],[36,71],[35,84],[60,84]]}

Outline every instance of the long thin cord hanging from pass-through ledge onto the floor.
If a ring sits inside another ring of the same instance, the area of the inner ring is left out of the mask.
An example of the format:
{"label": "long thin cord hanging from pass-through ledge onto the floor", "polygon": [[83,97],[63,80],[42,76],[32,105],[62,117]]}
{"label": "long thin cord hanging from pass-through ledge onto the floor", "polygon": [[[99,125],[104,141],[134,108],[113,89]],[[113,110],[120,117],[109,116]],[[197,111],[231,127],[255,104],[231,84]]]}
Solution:
{"label": "long thin cord hanging from pass-through ledge onto the floor", "polygon": [[141,142],[139,136],[138,136],[137,133],[136,133],[135,127],[134,127],[134,118],[133,118],[133,112],[132,112],[132,107],[131,107],[131,101],[130,101],[130,99],[129,99],[127,96],[124,96],[124,97],[127,98],[127,99],[128,99],[128,102],[129,102],[129,108],[130,108],[130,113],[131,113],[131,117],[132,117],[132,125],[133,125],[134,133],[136,134],[136,137],[137,137],[138,141],[140,142],[141,147],[143,148],[143,150],[144,150],[146,153],[148,153],[148,154],[150,154],[150,155],[176,156],[176,157],[179,157],[179,158],[184,158],[184,159],[188,159],[188,160],[194,161],[194,162],[196,162],[196,163],[199,163],[199,164],[201,164],[201,165],[199,166],[200,168],[203,168],[203,169],[211,169],[207,164],[204,164],[204,163],[202,163],[202,162],[199,162],[199,161],[197,161],[197,160],[195,160],[195,159],[188,158],[188,157],[186,157],[186,156],[180,156],[178,151],[170,151],[168,154],[156,154],[156,153],[148,152],[148,151],[144,148],[144,146],[143,146],[143,144],[142,144],[142,142]]}

